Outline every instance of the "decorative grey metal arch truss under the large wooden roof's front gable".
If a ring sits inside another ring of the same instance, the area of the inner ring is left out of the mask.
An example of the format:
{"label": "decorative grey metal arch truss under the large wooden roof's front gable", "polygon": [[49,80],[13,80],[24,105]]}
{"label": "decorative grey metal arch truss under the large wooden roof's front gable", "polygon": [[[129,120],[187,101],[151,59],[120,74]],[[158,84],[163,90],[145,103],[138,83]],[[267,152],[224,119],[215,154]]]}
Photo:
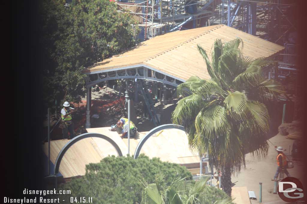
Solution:
{"label": "decorative grey metal arch truss under the large wooden roof's front gable", "polygon": [[[146,79],[153,80],[165,84],[172,85],[177,87],[183,80],[175,79],[171,76],[167,76],[163,73],[157,72],[155,70],[151,70],[151,76],[147,76],[148,68],[145,67],[137,67],[130,69],[119,69],[119,70],[108,70],[102,71],[99,73],[93,73],[87,75],[86,86],[87,88],[93,87],[96,84],[108,81],[108,80],[116,80],[116,79]],[[159,76],[158,76],[159,75]]]}

